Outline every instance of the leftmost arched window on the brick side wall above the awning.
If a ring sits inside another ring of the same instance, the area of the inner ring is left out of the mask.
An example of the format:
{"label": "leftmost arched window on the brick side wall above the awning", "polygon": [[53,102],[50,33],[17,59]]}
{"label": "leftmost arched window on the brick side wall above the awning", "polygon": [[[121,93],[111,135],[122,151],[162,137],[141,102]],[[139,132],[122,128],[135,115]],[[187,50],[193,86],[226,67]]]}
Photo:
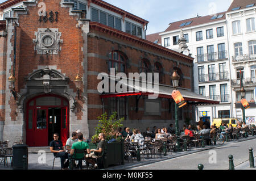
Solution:
{"label": "leftmost arched window on the brick side wall above the awning", "polygon": [[110,52],[108,70],[110,71],[111,68],[114,68],[115,73],[118,73],[118,72],[126,73],[125,62],[126,62],[126,58],[121,52],[118,52],[118,51]]}

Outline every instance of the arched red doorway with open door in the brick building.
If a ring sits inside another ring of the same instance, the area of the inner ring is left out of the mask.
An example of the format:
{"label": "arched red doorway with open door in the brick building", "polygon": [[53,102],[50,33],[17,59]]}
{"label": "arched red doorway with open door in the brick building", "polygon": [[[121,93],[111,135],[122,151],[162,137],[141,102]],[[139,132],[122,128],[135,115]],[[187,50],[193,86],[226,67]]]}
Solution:
{"label": "arched red doorway with open door in the brick building", "polygon": [[65,142],[69,136],[69,103],[58,95],[39,95],[28,100],[26,130],[28,146],[48,146],[53,133]]}

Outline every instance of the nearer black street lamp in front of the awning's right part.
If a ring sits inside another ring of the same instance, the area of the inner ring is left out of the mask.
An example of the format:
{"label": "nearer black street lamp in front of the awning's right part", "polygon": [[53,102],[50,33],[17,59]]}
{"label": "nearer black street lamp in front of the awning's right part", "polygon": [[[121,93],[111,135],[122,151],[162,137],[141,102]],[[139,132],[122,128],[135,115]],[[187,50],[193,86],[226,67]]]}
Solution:
{"label": "nearer black street lamp in front of the awning's right part", "polygon": [[[175,90],[177,90],[177,87],[179,86],[179,79],[180,79],[180,76],[177,74],[177,70],[174,70],[174,73],[172,73],[171,79],[172,79],[172,86],[174,86]],[[175,134],[177,137],[177,142],[176,142],[177,151],[182,151],[182,149],[180,148],[179,121],[177,119],[177,104],[176,104],[176,102],[175,102]]]}

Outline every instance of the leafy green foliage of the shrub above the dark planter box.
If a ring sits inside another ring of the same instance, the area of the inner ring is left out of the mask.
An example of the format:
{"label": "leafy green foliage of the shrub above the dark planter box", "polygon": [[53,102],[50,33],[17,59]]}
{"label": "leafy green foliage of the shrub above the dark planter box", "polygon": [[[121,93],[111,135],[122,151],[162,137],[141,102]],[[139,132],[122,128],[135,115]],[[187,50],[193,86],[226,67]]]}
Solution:
{"label": "leafy green foliage of the shrub above the dark planter box", "polygon": [[[122,127],[122,121],[125,119],[122,117],[117,120],[117,112],[113,112],[113,114],[108,118],[108,114],[105,112],[101,116],[98,116],[98,127],[96,127],[95,135],[92,137],[92,142],[96,143],[98,141],[98,134],[104,133],[105,140],[108,142],[115,138],[114,132],[118,130],[119,127]],[[121,138],[119,138],[121,139]]]}

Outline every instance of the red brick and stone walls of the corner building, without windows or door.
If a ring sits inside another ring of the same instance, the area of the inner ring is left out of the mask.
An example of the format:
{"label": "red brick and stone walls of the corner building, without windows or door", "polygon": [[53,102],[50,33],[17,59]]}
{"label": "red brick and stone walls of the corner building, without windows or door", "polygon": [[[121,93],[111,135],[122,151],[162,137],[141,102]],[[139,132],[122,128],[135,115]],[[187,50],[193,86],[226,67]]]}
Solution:
{"label": "red brick and stone walls of the corner building, without windows or door", "polygon": [[[44,2],[47,7],[48,18],[49,12],[58,12],[57,21],[40,22],[38,15],[38,4]],[[26,102],[32,96],[40,95],[40,92],[32,94],[27,88],[27,79],[36,70],[44,69],[48,66],[51,69],[59,71],[61,74],[68,77],[68,95],[74,95],[76,100],[75,111],[72,111],[71,100],[69,100],[69,123],[71,134],[75,129],[79,128],[79,124],[84,124],[82,131],[86,132],[86,136],[92,136],[97,117],[102,114],[102,100],[100,93],[97,92],[97,85],[100,80],[97,79],[97,74],[101,72],[108,73],[109,53],[117,50],[126,57],[126,72],[140,73],[142,60],[147,59],[150,62],[151,70],[154,71],[156,62],[162,66],[162,83],[171,85],[170,75],[174,68],[179,68],[183,73],[181,86],[190,90],[192,87],[191,75],[193,70],[193,59],[184,56],[173,50],[166,49],[147,40],[130,35],[128,33],[115,30],[108,26],[96,22],[88,22],[84,19],[79,19],[79,12],[71,12],[70,5],[60,4],[60,0],[43,1],[39,0],[36,3],[26,3],[24,11],[15,11],[16,18],[6,20],[6,29],[2,27],[0,36],[0,121],[6,121],[10,127],[13,125],[10,121],[18,121],[20,123],[20,136],[26,137]],[[91,3],[96,3],[92,1]],[[6,5],[5,5],[6,6]],[[89,7],[89,6],[88,6]],[[143,19],[139,19],[143,22]],[[144,22],[144,24],[147,22]],[[87,27],[86,27],[87,26]],[[79,27],[79,28],[78,28]],[[16,28],[16,39],[14,28]],[[61,32],[59,42],[60,51],[57,54],[53,53],[38,53],[36,49],[36,32],[43,28],[57,28]],[[84,28],[84,29],[83,29]],[[89,32],[85,32],[89,28]],[[14,43],[16,41],[16,52],[14,52]],[[14,54],[16,60],[14,62]],[[14,72],[15,63],[15,72]],[[15,91],[17,99],[11,94],[9,89],[8,78],[11,74],[15,74]],[[83,78],[83,83],[80,87],[81,96],[83,99],[78,99],[77,89],[75,86],[75,78],[79,74]],[[23,92],[26,92],[24,94]],[[8,93],[8,94],[6,94]],[[44,94],[44,92],[41,92]],[[52,91],[51,94],[55,94]],[[135,111],[135,96],[127,98],[129,107],[127,108],[127,116],[129,120],[168,120],[172,119],[170,104],[168,99],[161,99],[162,110],[159,116],[145,115],[144,100],[141,99],[138,103],[138,112]],[[6,102],[7,101],[7,102]],[[104,100],[105,106],[108,107],[108,100]],[[22,104],[22,105],[21,105]],[[21,107],[21,108],[20,108]],[[189,116],[192,117],[191,107],[187,107],[183,111],[183,119]],[[108,111],[108,108],[105,108]],[[7,113],[7,115],[6,115]],[[9,118],[10,116],[10,118]],[[143,123],[140,124],[143,124]],[[22,125],[22,123],[25,123]],[[91,124],[93,123],[93,124]],[[139,123],[139,122],[138,122]],[[162,122],[160,122],[162,123]],[[126,122],[129,125],[129,121]],[[133,123],[134,124],[134,123]],[[132,125],[131,125],[132,126]],[[145,127],[152,125],[145,125]],[[138,125],[141,127],[141,125]],[[4,133],[4,138],[9,138],[7,133]],[[18,136],[17,136],[18,137]]]}

